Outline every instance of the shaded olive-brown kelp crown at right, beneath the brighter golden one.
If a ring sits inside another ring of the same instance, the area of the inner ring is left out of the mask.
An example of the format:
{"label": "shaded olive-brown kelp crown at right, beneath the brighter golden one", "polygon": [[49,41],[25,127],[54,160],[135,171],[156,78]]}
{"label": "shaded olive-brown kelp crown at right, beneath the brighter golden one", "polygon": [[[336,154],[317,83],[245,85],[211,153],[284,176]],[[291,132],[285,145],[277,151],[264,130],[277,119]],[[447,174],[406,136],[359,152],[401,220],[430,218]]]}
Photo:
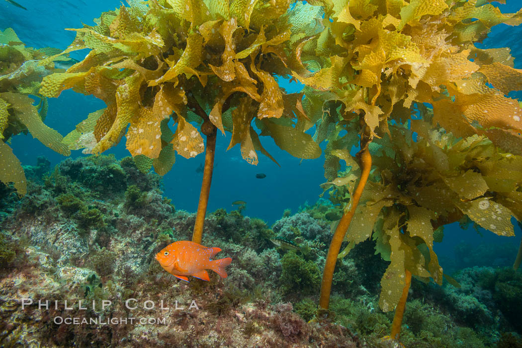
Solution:
{"label": "shaded olive-brown kelp crown at right, beneath the brighter golden one", "polygon": [[[416,142],[411,140],[412,132],[417,133]],[[345,144],[338,137],[332,139]],[[467,215],[493,233],[513,235],[511,217],[517,217],[522,207],[522,195],[516,191],[522,180],[522,157],[499,153],[484,136],[458,141],[424,120],[412,120],[411,129],[390,126],[389,138],[373,142],[376,167],[350,223],[345,238],[350,243],[340,256],[373,233],[377,252],[392,261],[381,282],[379,302],[383,309],[391,310],[400,294],[404,269],[419,279],[432,277],[442,282],[444,274],[433,251],[433,226]],[[389,151],[383,151],[384,147]],[[352,167],[353,158],[345,148],[327,147],[327,151],[337,162],[342,159]],[[334,203],[348,205],[351,201],[345,192],[358,176],[350,175],[351,170],[346,170],[330,182],[336,185],[330,198]],[[407,213],[399,213],[397,206],[406,207]],[[399,221],[402,231],[397,232]]]}

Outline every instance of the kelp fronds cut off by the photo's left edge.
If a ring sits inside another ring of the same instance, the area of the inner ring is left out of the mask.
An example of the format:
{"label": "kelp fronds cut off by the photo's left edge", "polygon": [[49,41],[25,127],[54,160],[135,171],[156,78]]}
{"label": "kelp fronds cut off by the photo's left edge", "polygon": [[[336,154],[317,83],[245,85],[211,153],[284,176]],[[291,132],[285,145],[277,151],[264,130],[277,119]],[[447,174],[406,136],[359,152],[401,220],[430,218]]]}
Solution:
{"label": "kelp fronds cut off by the photo's left edge", "polygon": [[[57,153],[70,155],[62,135],[43,123],[47,99],[38,93],[42,78],[57,70],[52,61],[41,65],[40,60],[60,52],[26,47],[13,29],[0,31],[0,181],[13,182],[19,195],[26,194],[27,182],[20,161],[6,144],[11,136],[30,132]],[[38,96],[39,104],[33,105],[29,95]]]}

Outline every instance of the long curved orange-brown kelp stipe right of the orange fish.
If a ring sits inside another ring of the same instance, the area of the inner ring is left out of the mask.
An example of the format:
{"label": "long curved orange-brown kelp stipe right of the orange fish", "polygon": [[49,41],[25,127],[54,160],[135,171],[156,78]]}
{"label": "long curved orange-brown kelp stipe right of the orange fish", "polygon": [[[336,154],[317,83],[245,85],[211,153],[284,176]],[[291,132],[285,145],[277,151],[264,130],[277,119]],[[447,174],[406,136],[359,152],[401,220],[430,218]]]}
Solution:
{"label": "long curved orange-brown kelp stipe right of the orange fish", "polygon": [[328,309],[328,305],[330,303],[331,281],[334,278],[335,264],[337,262],[337,256],[339,255],[341,243],[345,239],[345,234],[348,231],[353,214],[355,214],[355,208],[357,208],[357,204],[361,198],[366,181],[370,176],[370,169],[372,168],[372,156],[370,155],[368,145],[369,142],[367,142],[361,150],[361,180],[359,180],[359,184],[353,192],[351,202],[352,207],[348,213],[342,215],[341,220],[339,221],[339,224],[335,230],[334,237],[331,239],[330,247],[328,248],[325,269],[323,271],[323,281],[321,283],[321,297],[319,297],[319,307],[323,309]]}

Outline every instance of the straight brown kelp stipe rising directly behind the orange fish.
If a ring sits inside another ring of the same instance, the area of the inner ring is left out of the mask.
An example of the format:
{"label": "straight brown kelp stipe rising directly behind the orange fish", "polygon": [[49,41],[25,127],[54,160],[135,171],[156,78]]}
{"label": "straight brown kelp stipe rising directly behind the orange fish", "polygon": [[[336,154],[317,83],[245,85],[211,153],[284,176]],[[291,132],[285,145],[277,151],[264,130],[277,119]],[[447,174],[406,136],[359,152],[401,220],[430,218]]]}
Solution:
{"label": "straight brown kelp stipe rising directly behind the orange fish", "polygon": [[[209,125],[205,125],[208,122]],[[201,131],[207,135],[207,146],[205,149],[205,168],[203,169],[203,182],[201,182],[201,192],[199,193],[199,203],[197,206],[196,223],[192,233],[192,241],[201,244],[203,235],[203,225],[207,214],[208,194],[210,183],[212,182],[212,171],[214,169],[214,154],[216,153],[216,127],[210,121],[203,122]],[[207,134],[207,132],[209,134]]]}

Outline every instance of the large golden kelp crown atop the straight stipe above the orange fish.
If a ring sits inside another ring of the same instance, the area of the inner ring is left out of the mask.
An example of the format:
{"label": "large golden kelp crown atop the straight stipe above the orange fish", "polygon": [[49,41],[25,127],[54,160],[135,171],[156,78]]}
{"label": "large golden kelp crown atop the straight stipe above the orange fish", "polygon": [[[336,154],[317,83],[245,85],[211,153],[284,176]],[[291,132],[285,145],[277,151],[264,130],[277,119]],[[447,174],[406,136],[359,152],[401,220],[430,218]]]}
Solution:
{"label": "large golden kelp crown atop the straight stipe above the orange fish", "polygon": [[[229,148],[241,144],[243,158],[252,164],[258,162],[256,150],[271,158],[253,119],[261,135],[272,136],[292,155],[321,154],[304,133],[313,122],[302,109],[301,95],[285,94],[274,77],[291,73],[279,56],[286,57],[294,36],[301,34],[292,32],[288,0],[130,5],[103,13],[97,26],[75,29],[76,39],[64,53],[83,48],[90,53],[42,83],[43,95],[56,97],[73,88],[107,105],[66,136],[71,150],[103,152],[120,141],[130,123],[127,149],[142,169],[153,164],[164,174],[175,152],[189,158],[204,150],[191,122],[201,126],[208,117],[222,132],[232,132]],[[168,125],[171,117],[175,132]]]}

